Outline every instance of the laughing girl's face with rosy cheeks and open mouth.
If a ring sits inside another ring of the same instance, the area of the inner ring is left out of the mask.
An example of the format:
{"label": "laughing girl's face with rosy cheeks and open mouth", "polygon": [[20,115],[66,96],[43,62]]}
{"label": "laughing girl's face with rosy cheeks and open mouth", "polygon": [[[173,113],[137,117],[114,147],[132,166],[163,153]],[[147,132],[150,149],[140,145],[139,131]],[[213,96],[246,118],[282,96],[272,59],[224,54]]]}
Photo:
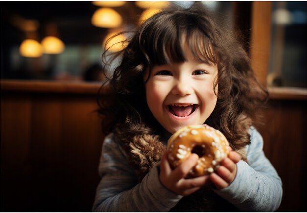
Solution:
{"label": "laughing girl's face with rosy cheeks and open mouth", "polygon": [[217,66],[196,61],[187,46],[184,50],[187,61],[153,67],[145,83],[149,109],[172,134],[205,123],[217,102],[213,89]]}

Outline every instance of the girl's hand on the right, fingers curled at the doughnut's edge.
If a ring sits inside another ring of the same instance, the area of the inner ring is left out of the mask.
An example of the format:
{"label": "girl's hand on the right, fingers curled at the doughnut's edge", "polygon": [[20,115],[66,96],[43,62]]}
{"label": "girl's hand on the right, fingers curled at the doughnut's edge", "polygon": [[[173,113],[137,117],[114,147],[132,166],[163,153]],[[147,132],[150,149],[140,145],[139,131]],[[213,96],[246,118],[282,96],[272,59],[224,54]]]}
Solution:
{"label": "girl's hand on the right, fingers curled at the doughnut's edge", "polygon": [[237,174],[237,165],[241,159],[240,155],[231,151],[216,171],[210,174],[210,180],[217,189],[223,189],[230,185]]}

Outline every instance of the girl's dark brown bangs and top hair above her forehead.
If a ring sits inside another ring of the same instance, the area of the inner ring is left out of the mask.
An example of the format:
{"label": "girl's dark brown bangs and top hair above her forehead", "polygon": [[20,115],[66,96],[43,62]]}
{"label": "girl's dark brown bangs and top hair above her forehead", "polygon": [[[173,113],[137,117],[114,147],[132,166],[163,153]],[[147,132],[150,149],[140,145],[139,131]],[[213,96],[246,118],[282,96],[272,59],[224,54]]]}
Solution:
{"label": "girl's dark brown bangs and top hair above her forehead", "polygon": [[213,39],[201,25],[196,24],[198,20],[191,20],[191,17],[184,16],[174,18],[173,14],[166,14],[166,16],[170,16],[166,19],[169,21],[166,22],[165,17],[163,22],[159,20],[159,16],[152,18],[155,19],[155,24],[147,30],[145,24],[143,36],[141,35],[143,37],[141,41],[144,43],[140,46],[143,46],[142,52],[147,59],[146,67],[185,62],[187,60],[184,52],[186,44],[195,60],[217,64]]}

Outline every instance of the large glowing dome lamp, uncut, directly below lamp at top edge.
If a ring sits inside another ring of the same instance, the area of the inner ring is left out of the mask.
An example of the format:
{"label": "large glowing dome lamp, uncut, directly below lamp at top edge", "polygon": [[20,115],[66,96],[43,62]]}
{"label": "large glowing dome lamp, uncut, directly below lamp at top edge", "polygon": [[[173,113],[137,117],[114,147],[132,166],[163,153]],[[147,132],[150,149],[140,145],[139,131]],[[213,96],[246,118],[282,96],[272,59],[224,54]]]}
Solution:
{"label": "large glowing dome lamp, uncut, directly below lamp at top edge", "polygon": [[92,16],[92,24],[102,28],[115,28],[122,24],[122,17],[111,8],[100,8]]}

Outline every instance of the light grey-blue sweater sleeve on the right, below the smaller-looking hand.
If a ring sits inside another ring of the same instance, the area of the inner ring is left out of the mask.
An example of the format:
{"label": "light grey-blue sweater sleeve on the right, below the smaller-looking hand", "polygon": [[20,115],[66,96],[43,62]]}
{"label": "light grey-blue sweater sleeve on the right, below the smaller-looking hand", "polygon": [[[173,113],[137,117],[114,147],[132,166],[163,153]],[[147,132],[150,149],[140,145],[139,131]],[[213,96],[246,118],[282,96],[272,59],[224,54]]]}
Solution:
{"label": "light grey-blue sweater sleeve on the right, below the smaller-looking hand", "polygon": [[281,204],[281,178],[264,155],[261,135],[254,128],[250,129],[250,134],[249,164],[240,160],[234,181],[228,187],[214,191],[241,211],[275,211]]}

